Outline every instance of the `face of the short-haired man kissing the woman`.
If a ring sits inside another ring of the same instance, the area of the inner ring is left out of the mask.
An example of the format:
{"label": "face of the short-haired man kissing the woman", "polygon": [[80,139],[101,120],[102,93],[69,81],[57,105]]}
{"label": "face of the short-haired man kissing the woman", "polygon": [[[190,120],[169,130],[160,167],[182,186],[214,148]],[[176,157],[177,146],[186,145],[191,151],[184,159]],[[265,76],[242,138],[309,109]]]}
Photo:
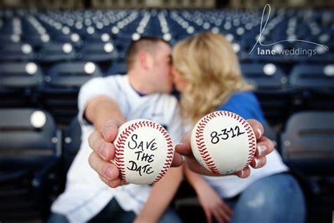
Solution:
{"label": "face of the short-haired man kissing the woman", "polygon": [[171,92],[173,89],[173,78],[171,76],[172,49],[165,42],[159,42],[154,56],[152,71],[154,73],[153,83],[159,92]]}

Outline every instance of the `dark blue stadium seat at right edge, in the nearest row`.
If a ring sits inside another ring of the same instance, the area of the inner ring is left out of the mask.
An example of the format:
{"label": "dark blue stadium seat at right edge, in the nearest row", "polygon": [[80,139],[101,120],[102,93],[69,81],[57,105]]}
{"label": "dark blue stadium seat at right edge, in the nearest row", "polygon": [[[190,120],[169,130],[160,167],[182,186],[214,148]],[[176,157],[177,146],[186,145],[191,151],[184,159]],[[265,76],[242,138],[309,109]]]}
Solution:
{"label": "dark blue stadium seat at right edge, in the nearest row", "polygon": [[334,112],[304,111],[287,121],[282,152],[306,174],[334,174]]}

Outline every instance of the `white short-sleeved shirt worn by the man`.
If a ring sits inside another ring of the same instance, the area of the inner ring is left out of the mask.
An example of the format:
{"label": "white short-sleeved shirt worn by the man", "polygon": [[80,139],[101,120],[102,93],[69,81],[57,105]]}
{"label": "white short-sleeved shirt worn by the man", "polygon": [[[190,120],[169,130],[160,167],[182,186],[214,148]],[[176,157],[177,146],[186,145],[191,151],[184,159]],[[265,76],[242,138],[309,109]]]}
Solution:
{"label": "white short-sleeved shirt worn by the man", "polygon": [[66,215],[70,222],[87,222],[112,198],[116,198],[123,210],[138,214],[151,191],[151,186],[135,184],[109,188],[89,166],[88,157],[92,149],[87,139],[94,128],[85,120],[84,112],[89,100],[101,95],[115,100],[127,121],[151,119],[165,126],[174,145],[180,143],[183,136],[180,109],[175,97],[167,94],[140,96],[130,85],[128,76],[93,78],[82,85],[78,100],[82,144],[68,171],[66,190],[51,207],[52,212]]}

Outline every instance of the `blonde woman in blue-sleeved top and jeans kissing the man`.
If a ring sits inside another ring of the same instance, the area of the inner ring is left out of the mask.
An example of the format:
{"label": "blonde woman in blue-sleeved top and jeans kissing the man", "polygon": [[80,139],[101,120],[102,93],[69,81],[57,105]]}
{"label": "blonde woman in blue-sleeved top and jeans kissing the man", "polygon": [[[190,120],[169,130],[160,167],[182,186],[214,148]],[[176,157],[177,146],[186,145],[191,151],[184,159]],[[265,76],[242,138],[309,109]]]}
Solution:
{"label": "blonde woman in blue-sleeved top and jeans kissing the man", "polygon": [[[265,121],[254,88],[242,77],[237,56],[222,35],[202,33],[176,44],[173,78],[181,92],[181,114],[189,131],[199,119],[217,110]],[[262,149],[258,147],[258,152]],[[304,196],[297,181],[276,150],[266,159],[266,166],[252,170],[247,179],[204,176],[185,167],[208,222],[304,222]]]}

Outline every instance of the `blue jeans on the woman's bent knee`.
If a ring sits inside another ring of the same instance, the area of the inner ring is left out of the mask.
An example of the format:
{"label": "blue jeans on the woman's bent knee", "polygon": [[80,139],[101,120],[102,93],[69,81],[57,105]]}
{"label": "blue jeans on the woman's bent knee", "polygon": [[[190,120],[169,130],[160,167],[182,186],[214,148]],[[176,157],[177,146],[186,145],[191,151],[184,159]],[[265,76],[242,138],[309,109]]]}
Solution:
{"label": "blue jeans on the woman's bent knee", "polygon": [[296,179],[287,173],[259,179],[225,203],[233,209],[231,223],[305,222],[304,195]]}

